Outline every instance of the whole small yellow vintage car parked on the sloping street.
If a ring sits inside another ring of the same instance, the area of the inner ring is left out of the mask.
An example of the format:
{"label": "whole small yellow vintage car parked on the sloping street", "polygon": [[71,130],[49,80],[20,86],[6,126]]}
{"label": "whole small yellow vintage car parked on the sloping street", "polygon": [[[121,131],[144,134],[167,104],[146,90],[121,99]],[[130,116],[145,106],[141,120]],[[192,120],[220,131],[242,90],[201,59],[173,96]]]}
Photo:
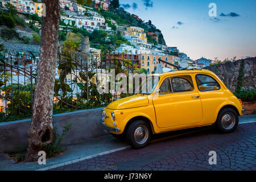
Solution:
{"label": "whole small yellow vintage car parked on the sloping street", "polygon": [[187,69],[154,74],[152,92],[114,101],[102,110],[102,126],[114,137],[125,136],[134,148],[152,134],[216,125],[231,133],[243,114],[242,101],[213,72]]}

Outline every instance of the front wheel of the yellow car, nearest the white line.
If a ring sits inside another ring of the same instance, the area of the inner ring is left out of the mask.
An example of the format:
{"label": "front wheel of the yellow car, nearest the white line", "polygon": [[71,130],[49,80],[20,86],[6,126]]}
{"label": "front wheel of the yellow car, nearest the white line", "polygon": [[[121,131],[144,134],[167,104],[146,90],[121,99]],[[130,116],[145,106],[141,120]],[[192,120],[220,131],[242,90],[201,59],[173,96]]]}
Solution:
{"label": "front wheel of the yellow car, nearest the white line", "polygon": [[133,148],[143,148],[151,139],[151,127],[147,122],[137,120],[131,123],[127,129],[126,139]]}

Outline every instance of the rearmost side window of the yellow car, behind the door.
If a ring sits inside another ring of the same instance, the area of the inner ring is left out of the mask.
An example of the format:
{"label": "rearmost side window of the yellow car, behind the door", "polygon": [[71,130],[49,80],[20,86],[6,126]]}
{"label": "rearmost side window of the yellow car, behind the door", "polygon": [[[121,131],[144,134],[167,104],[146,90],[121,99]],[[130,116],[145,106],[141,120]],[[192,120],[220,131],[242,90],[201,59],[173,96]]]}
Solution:
{"label": "rearmost side window of the yellow car, behind the door", "polygon": [[220,84],[208,75],[196,75],[196,84],[201,92],[220,90]]}

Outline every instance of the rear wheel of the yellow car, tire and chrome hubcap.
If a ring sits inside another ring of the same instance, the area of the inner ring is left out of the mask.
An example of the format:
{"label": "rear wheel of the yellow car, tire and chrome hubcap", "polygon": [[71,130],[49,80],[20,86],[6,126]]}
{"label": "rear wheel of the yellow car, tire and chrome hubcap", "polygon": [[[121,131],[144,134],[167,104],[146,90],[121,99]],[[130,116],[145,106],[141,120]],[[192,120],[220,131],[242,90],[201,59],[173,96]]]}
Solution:
{"label": "rear wheel of the yellow car, tire and chrome hubcap", "polygon": [[236,130],[239,122],[236,110],[225,108],[218,113],[216,127],[220,133],[232,133]]}

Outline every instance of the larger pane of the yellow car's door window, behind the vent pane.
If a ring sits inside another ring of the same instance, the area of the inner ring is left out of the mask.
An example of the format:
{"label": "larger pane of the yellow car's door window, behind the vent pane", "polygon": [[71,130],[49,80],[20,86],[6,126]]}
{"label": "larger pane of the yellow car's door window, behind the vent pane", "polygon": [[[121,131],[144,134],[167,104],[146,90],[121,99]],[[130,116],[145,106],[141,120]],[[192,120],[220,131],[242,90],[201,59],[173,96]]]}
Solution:
{"label": "larger pane of the yellow car's door window, behind the vent pane", "polygon": [[191,76],[178,76],[171,78],[172,91],[177,92],[191,92],[194,90]]}

